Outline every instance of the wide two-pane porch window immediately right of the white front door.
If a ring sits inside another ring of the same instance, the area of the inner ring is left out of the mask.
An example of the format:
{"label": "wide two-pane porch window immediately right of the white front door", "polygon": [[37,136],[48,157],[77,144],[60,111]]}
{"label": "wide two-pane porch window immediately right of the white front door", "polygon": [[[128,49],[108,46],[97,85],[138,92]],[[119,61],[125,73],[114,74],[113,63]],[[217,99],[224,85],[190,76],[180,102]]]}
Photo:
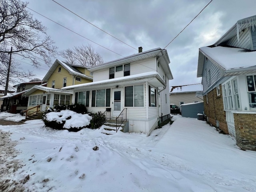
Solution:
{"label": "wide two-pane porch window immediately right of the white front door", "polygon": [[144,86],[134,85],[124,88],[124,106],[143,107],[144,106]]}

